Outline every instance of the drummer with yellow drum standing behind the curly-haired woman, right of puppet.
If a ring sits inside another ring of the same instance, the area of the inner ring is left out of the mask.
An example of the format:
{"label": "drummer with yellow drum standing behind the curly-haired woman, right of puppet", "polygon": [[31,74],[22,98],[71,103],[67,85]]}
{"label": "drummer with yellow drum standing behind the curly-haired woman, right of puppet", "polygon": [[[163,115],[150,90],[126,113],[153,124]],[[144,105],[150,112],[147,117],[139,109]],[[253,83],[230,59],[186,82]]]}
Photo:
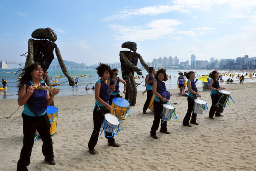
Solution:
{"label": "drummer with yellow drum standing behind the curly-haired woman, right of puppet", "polygon": [[146,88],[147,88],[147,99],[146,99],[144,107],[143,107],[143,114],[147,114],[146,110],[148,109],[148,105],[153,96],[152,88],[153,88],[153,82],[155,80],[154,79],[154,74],[155,74],[154,67],[149,67],[148,72],[149,72],[149,74],[145,78],[145,83],[146,83]]}

